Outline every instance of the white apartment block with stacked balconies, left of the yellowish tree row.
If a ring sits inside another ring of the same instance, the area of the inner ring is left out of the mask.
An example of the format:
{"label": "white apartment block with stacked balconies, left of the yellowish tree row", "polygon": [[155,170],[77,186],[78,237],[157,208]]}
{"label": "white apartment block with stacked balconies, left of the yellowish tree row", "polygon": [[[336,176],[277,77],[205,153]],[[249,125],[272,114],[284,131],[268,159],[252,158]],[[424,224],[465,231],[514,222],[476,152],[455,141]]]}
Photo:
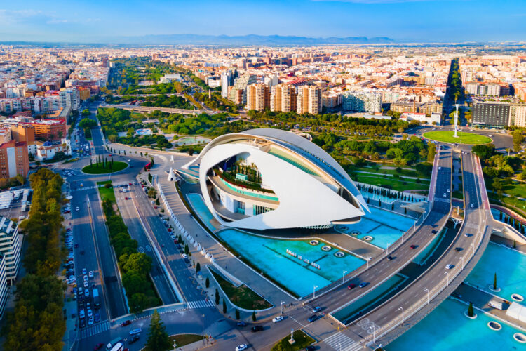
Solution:
{"label": "white apartment block with stacked balconies, left of the yellowish tree row", "polygon": [[22,234],[18,233],[18,224],[0,216],[0,253],[6,261],[6,281],[9,285],[15,282],[18,274],[21,249]]}

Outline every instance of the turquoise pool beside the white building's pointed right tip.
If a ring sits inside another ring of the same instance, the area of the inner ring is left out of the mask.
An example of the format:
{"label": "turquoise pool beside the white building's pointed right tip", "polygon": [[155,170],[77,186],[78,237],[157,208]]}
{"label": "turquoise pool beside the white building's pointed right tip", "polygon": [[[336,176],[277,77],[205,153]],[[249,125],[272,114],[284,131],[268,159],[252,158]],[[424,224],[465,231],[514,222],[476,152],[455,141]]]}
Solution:
{"label": "turquoise pool beside the white building's pointed right tip", "polygon": [[358,230],[361,234],[358,239],[370,235],[373,237],[372,241],[368,241],[373,245],[386,249],[387,246],[393,244],[396,239],[402,236],[403,231],[407,231],[413,224],[414,220],[409,217],[401,216],[398,213],[385,211],[380,208],[370,207],[371,213],[366,213],[360,219],[360,222],[352,225],[344,225],[346,229],[342,232],[350,233],[353,230]]}

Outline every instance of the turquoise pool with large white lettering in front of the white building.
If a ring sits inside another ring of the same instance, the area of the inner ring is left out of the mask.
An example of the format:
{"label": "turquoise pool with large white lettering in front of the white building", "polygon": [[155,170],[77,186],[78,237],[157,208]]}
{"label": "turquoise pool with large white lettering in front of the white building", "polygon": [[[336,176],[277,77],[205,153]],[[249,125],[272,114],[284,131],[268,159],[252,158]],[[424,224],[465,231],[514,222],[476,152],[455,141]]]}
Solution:
{"label": "turquoise pool with large white lettering in front of the white building", "polygon": [[[309,241],[268,239],[234,229],[222,230],[217,235],[259,270],[287,286],[298,296],[312,293],[315,285],[318,286],[316,289],[321,289],[342,279],[344,270],[352,272],[364,263],[349,253],[337,258],[334,253],[339,250],[334,247],[330,251],[321,250],[325,245],[323,242],[313,246]],[[297,257],[288,254],[287,250],[296,253]],[[299,256],[316,263],[320,269],[300,260]]]}

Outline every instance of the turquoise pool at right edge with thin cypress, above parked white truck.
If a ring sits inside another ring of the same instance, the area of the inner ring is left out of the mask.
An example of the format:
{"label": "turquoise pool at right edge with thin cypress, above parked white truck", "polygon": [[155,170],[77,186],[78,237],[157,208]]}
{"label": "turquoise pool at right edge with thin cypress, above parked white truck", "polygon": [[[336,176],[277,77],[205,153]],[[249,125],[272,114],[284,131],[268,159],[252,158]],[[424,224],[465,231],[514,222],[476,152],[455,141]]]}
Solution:
{"label": "turquoise pool at right edge with thin cypress, above parked white truck", "polygon": [[490,242],[466,281],[493,293],[488,286],[493,284],[497,273],[497,296],[511,300],[512,293],[526,296],[526,255]]}

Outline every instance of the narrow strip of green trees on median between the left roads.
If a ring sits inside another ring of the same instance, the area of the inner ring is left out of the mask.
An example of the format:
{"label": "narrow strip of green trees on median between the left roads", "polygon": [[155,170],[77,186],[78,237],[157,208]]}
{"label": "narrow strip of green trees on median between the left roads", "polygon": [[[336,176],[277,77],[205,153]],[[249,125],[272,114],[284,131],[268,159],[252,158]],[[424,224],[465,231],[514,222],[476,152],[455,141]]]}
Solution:
{"label": "narrow strip of green trees on median between the left roads", "polygon": [[137,314],[145,308],[160,305],[161,300],[156,296],[149,279],[151,258],[146,253],[137,252],[137,241],[130,237],[122,217],[114,211],[114,202],[104,200],[102,209],[106,216],[110,243],[122,272],[130,312]]}

